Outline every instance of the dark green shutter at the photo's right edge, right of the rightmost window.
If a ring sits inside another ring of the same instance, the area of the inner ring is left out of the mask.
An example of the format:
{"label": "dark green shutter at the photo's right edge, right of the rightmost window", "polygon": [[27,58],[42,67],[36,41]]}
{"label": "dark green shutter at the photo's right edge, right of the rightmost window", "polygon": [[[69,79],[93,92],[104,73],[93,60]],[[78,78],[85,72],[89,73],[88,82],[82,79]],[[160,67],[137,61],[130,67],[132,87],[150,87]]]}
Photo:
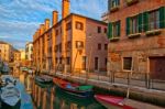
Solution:
{"label": "dark green shutter at the photo's right edge, right of the rightmost window", "polygon": [[160,28],[165,28],[165,7],[160,8]]}

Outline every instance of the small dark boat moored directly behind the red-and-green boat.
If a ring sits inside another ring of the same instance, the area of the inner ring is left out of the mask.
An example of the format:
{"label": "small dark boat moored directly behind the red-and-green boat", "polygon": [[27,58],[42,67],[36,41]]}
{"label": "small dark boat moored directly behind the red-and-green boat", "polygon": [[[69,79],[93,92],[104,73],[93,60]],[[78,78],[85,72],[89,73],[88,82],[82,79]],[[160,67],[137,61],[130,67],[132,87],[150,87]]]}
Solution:
{"label": "small dark boat moored directly behind the red-and-green boat", "polygon": [[42,84],[51,84],[53,79],[48,76],[35,76],[35,81],[42,83]]}

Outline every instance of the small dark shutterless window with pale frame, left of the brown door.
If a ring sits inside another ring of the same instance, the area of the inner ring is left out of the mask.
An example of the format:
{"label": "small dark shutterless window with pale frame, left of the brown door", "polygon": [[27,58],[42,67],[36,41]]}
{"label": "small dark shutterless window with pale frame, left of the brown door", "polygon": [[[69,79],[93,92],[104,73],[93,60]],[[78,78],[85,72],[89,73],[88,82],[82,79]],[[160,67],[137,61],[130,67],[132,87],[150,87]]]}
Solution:
{"label": "small dark shutterless window with pale frame, left of the brown door", "polygon": [[123,57],[123,69],[131,70],[132,67],[132,57]]}

